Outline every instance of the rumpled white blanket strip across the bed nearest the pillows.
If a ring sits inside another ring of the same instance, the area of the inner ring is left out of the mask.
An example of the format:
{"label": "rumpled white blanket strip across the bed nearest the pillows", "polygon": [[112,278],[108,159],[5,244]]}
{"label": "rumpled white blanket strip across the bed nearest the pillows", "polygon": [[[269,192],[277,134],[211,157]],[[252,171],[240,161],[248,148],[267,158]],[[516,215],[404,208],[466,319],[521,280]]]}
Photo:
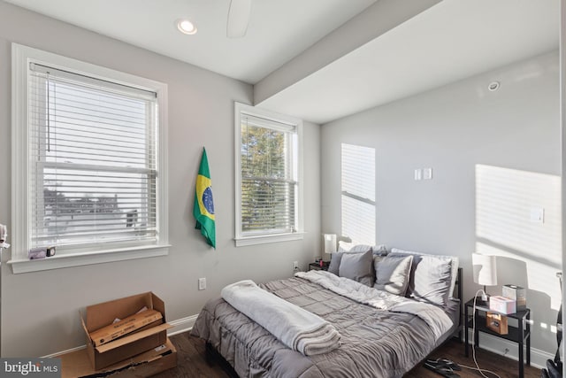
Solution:
{"label": "rumpled white blanket strip across the bed nearest the pillows", "polygon": [[371,305],[371,307],[381,310],[408,312],[417,315],[428,324],[437,339],[452,327],[452,320],[435,305],[395,296],[386,291],[374,289],[363,283],[325,271],[310,270],[309,272],[298,272],[294,275],[315,282],[336,294],[340,294],[340,296],[348,297],[364,305]]}

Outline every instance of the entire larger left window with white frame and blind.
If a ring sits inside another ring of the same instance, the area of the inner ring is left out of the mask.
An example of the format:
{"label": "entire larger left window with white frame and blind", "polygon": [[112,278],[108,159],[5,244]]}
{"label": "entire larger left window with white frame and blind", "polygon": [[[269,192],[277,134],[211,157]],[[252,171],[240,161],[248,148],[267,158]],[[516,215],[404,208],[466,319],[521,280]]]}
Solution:
{"label": "entire larger left window with white frame and blind", "polygon": [[[50,266],[101,252],[164,254],[164,84],[25,46],[14,45],[14,57],[12,158],[22,162],[23,195],[13,224],[27,230],[14,243],[14,272],[38,247],[57,247]],[[21,269],[40,265],[31,266]]]}

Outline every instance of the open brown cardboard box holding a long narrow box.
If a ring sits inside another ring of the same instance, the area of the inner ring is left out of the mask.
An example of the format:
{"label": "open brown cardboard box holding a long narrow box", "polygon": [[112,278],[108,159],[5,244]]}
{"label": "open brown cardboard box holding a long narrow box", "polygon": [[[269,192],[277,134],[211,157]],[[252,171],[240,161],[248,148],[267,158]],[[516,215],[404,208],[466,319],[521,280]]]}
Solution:
{"label": "open brown cardboard box holding a long narrow box", "polygon": [[[110,343],[98,346],[94,343],[91,337],[92,332],[111,325],[112,321],[117,318],[126,319],[128,316],[140,311],[144,306],[149,310],[160,312],[162,318]],[[87,338],[88,358],[96,370],[111,366],[164,344],[167,340],[167,328],[171,328],[169,324],[165,323],[164,302],[150,292],[98,305],[89,305],[86,312],[80,314],[80,321]]]}

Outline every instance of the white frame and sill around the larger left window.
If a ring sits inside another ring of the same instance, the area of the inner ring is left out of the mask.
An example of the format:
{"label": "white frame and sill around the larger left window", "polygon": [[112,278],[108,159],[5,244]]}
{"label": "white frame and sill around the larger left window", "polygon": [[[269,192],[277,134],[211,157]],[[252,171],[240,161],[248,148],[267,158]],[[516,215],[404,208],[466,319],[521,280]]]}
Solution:
{"label": "white frame and sill around the larger left window", "polygon": [[[158,165],[157,165],[157,241],[149,243],[103,243],[103,247],[65,250],[50,258],[29,260],[32,186],[29,177],[28,78],[30,63],[79,73],[157,93],[158,107]],[[149,258],[168,254],[168,197],[167,197],[167,85],[103,66],[37,50],[18,43],[11,44],[11,225],[12,254],[8,264],[14,274],[84,266],[132,258]]]}

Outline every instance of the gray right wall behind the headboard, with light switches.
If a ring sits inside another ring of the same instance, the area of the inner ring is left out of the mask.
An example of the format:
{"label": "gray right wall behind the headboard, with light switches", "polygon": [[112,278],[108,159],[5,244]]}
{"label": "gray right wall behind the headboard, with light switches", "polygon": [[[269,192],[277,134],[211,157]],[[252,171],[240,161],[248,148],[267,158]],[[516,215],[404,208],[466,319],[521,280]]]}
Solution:
{"label": "gray right wall behind the headboard, with light switches", "polygon": [[[376,243],[458,256],[466,299],[479,289],[471,253],[499,256],[499,283],[528,288],[532,347],[554,353],[560,136],[557,52],[333,121],[321,127],[322,229],[340,235],[340,143],[375,148]],[[415,181],[425,167],[432,181]],[[543,224],[530,220],[537,207]]]}

